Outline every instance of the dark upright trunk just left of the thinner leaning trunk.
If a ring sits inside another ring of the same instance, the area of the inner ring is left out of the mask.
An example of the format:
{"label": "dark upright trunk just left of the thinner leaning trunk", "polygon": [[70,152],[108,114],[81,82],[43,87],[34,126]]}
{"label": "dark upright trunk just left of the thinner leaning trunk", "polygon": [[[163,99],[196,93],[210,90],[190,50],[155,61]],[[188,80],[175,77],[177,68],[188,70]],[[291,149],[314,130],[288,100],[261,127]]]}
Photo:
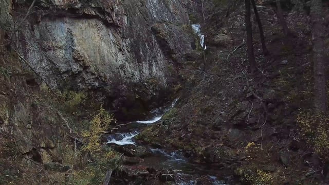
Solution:
{"label": "dark upright trunk just left of the thinner leaning trunk", "polygon": [[247,30],[247,47],[248,47],[248,61],[249,61],[249,72],[254,72],[256,69],[256,61],[255,56],[253,53],[253,45],[252,45],[252,27],[251,27],[251,21],[250,21],[250,15],[251,15],[251,7],[250,7],[250,0],[245,0],[246,4],[246,15],[245,15],[245,21],[246,21],[246,30]]}

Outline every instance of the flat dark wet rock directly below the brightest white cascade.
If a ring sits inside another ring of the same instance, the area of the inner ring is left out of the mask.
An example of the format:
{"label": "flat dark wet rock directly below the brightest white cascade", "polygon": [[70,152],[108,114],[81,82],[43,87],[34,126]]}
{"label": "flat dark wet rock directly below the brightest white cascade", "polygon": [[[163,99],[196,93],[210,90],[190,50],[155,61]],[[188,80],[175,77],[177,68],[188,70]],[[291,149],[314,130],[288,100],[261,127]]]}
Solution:
{"label": "flat dark wet rock directly below the brightest white cascade", "polygon": [[112,148],[129,157],[147,157],[152,154],[151,150],[147,149],[147,147],[133,144],[112,146]]}

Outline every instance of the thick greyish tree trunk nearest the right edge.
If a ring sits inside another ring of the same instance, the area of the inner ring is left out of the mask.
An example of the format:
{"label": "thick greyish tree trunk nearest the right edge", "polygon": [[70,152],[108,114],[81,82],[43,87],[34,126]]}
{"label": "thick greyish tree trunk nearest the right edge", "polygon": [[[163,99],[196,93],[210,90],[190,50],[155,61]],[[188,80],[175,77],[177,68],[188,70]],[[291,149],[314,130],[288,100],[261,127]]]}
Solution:
{"label": "thick greyish tree trunk nearest the right edge", "polygon": [[310,7],[312,18],[313,62],[314,62],[314,105],[317,112],[326,113],[326,78],[324,58],[324,35],[321,0],[312,0]]}

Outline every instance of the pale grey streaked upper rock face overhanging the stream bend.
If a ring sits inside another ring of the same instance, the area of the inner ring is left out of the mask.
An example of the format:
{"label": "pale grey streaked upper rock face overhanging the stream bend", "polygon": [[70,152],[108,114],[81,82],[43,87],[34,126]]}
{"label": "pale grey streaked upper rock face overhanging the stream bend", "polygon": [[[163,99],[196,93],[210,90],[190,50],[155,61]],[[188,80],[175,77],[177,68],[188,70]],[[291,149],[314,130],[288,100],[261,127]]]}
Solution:
{"label": "pale grey streaked upper rock face overhanging the stream bend", "polygon": [[[191,50],[185,1],[51,3],[36,1],[44,11],[27,17],[13,44],[51,88],[97,89],[116,108],[122,103],[114,100],[129,94],[150,101],[168,89],[176,63]],[[27,11],[21,4],[17,9]]]}

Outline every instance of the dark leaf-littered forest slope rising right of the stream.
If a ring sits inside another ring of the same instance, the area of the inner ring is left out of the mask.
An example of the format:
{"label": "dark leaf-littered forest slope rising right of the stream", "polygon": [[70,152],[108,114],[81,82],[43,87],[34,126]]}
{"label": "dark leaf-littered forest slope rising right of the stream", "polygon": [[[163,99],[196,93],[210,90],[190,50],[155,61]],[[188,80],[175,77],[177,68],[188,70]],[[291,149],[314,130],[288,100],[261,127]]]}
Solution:
{"label": "dark leaf-littered forest slope rising right of the stream", "polygon": [[308,119],[303,114],[313,105],[309,16],[287,14],[293,32],[287,37],[273,9],[259,6],[270,55],[264,57],[253,21],[258,70],[248,74],[243,8],[210,18],[205,60],[188,61],[180,70],[182,95],[163,117],[167,127],[153,125],[139,138],[182,150],[217,176],[231,174],[246,184],[327,181],[323,158],[298,121]]}

